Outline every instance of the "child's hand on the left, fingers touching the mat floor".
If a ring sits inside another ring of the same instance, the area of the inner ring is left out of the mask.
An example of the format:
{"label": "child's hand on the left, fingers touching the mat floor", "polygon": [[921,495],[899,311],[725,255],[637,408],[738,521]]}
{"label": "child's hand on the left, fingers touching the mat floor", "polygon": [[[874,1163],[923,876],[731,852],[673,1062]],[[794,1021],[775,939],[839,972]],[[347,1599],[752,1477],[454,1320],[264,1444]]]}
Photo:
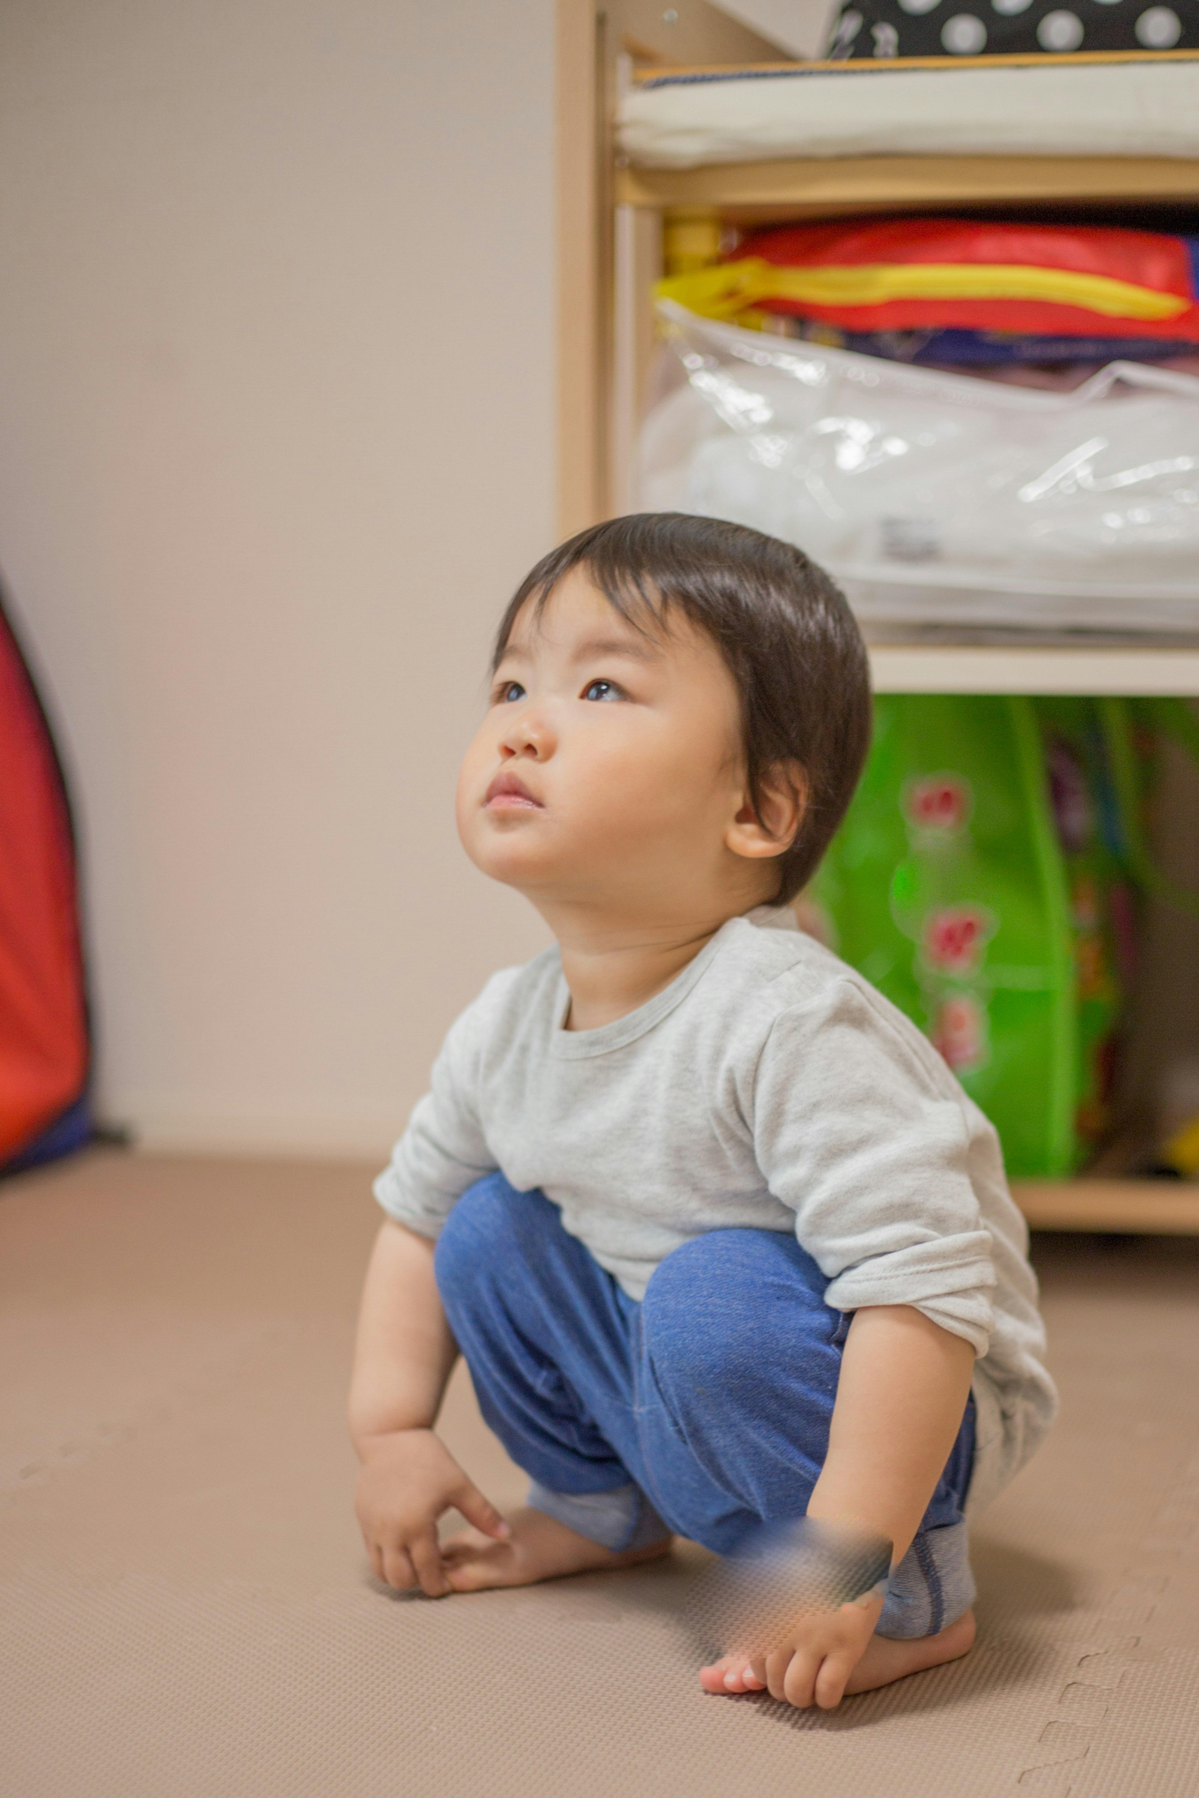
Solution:
{"label": "child's hand on the left, fingers touching the mat floor", "polygon": [[360,1442],[363,1456],[354,1509],[381,1580],[430,1598],[451,1588],[437,1544],[437,1519],[451,1505],[484,1535],[503,1539],[509,1527],[431,1429],[395,1429]]}

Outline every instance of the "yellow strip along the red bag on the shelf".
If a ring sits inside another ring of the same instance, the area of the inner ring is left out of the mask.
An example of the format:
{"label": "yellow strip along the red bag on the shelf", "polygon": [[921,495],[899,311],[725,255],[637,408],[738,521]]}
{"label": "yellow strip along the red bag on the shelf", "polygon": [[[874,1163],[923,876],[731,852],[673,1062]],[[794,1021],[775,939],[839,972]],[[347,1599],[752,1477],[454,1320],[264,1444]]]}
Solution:
{"label": "yellow strip along the red bag on the shelf", "polygon": [[1177,318],[1190,300],[1109,275],[1077,275],[1026,263],[863,263],[778,268],[750,255],[660,280],[658,298],[701,318],[737,318],[762,300],[800,306],[884,306],[888,300],[1048,300],[1106,318]]}

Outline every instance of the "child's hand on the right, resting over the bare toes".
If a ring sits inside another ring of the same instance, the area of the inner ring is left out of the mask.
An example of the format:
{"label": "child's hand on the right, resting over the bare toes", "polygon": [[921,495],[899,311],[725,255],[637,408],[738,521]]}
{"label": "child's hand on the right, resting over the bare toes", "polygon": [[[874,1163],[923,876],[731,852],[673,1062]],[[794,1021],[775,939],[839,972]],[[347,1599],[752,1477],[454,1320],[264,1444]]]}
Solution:
{"label": "child's hand on the right, resting over the bare toes", "polygon": [[699,1683],[705,1692],[760,1692],[766,1687],[771,1697],[798,1710],[809,1705],[832,1710],[845,1697],[881,1611],[881,1595],[856,1598],[839,1611],[805,1611],[771,1647],[724,1654],[703,1669]]}

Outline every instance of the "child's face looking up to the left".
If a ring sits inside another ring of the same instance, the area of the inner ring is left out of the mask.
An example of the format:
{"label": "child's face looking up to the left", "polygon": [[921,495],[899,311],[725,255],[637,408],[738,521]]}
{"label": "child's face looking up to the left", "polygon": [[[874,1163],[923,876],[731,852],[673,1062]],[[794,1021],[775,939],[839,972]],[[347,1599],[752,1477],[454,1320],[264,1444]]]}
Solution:
{"label": "child's face looking up to the left", "polygon": [[[534,903],[706,919],[769,897],[744,840],[733,680],[687,620],[645,636],[582,570],[520,613],[458,777],[458,832],[484,874]],[[759,858],[759,859],[755,859]]]}

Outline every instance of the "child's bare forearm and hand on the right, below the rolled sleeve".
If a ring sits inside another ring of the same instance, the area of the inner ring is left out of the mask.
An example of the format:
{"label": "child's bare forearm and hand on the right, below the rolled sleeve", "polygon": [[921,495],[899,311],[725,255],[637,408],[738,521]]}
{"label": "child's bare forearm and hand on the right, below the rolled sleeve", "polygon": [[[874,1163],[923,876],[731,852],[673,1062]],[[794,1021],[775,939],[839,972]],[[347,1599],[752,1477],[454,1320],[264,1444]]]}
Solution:
{"label": "child's bare forearm and hand on the right, below the rolled sleeve", "polygon": [[[962,1426],[973,1370],[971,1343],[911,1305],[856,1311],[809,1518],[886,1535],[892,1566],[902,1561]],[[807,1613],[773,1651],[746,1656],[746,1667],[775,1697],[829,1710],[881,1609],[883,1598],[874,1598]]]}

